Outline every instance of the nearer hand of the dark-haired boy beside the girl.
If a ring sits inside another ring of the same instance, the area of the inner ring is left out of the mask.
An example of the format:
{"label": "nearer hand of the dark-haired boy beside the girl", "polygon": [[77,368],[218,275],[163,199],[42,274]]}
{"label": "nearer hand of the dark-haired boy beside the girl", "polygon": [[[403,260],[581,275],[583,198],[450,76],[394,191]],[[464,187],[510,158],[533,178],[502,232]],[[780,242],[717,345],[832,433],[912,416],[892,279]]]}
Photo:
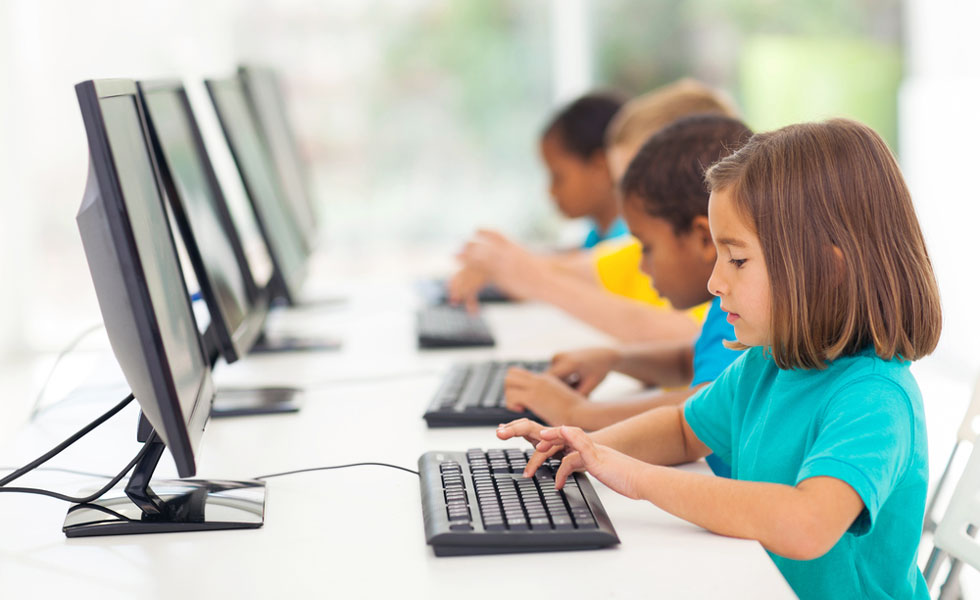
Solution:
{"label": "nearer hand of the dark-haired boy beside the girl", "polygon": [[577,424],[576,413],[585,396],[549,373],[511,367],[504,379],[504,404],[510,410],[529,410],[546,423]]}

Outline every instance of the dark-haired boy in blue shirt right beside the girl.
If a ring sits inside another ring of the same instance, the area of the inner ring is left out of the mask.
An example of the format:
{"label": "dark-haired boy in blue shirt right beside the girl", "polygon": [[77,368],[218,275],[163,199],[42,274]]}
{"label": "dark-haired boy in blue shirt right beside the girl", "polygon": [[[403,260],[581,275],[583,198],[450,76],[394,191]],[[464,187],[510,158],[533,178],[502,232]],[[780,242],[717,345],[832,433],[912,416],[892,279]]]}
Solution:
{"label": "dark-haired boy in blue shirt right beside the girl", "polygon": [[[751,135],[741,121],[730,117],[687,117],[654,134],[623,176],[623,211],[630,232],[643,247],[641,268],[657,292],[679,309],[712,299],[707,284],[716,254],[708,227],[704,168]],[[511,369],[505,384],[507,407],[529,409],[552,425],[599,429],[651,408],[681,404],[738,357],[723,345],[734,339],[716,298],[693,344],[687,340],[594,348],[557,355],[548,373]],[[649,386],[689,387],[639,399],[589,402],[586,395],[612,370]],[[577,389],[564,383],[569,379],[578,381]]]}

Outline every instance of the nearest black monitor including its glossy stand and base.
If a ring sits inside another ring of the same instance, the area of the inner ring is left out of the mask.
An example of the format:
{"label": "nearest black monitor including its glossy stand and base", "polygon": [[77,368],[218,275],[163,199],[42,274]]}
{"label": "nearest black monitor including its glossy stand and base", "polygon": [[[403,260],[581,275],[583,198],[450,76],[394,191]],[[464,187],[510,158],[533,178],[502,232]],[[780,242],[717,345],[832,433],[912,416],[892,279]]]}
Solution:
{"label": "nearest black monitor including its glossy stand and base", "polygon": [[73,506],[70,537],[259,527],[260,482],[150,478],[164,448],[177,473],[196,472],[214,384],[191,311],[167,213],[150,159],[136,84],[75,87],[89,144],[89,177],[77,222],[113,353],[142,410],[151,445],[126,497]]}

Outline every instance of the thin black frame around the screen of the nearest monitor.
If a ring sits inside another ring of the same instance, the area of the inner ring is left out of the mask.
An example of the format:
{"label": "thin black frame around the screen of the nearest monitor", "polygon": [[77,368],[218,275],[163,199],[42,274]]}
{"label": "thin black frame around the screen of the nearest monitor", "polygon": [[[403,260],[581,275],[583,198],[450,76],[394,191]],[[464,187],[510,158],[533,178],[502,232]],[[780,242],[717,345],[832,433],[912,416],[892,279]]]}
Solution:
{"label": "thin black frame around the screen of the nearest monitor", "polygon": [[[88,140],[90,155],[90,176],[96,177],[101,198],[102,216],[105,218],[107,230],[111,236],[111,250],[114,258],[118,262],[121,280],[125,287],[128,302],[127,306],[131,309],[133,323],[136,326],[136,337],[139,339],[145,372],[149,376],[149,383],[155,398],[153,400],[140,398],[136,400],[141,406],[148,402],[155,404],[153,410],[145,410],[148,416],[156,412],[162,423],[150,421],[154,429],[157,429],[161,438],[170,449],[174,464],[180,477],[190,477],[196,473],[195,454],[199,447],[204,427],[211,412],[211,402],[214,399],[214,383],[211,379],[211,369],[201,343],[200,335],[195,336],[197,352],[201,356],[203,370],[200,376],[198,391],[194,398],[194,404],[189,415],[184,415],[180,405],[180,398],[172,376],[172,369],[167,358],[163,344],[160,324],[153,310],[150,297],[149,285],[143,269],[142,261],[139,259],[135,235],[130,223],[129,212],[122,192],[115,158],[112,154],[112,147],[109,142],[106,129],[105,118],[102,113],[101,101],[107,98],[118,96],[129,96],[133,100],[133,106],[137,111],[140,122],[140,135],[143,136],[146,144],[147,159],[150,161],[151,169],[154,172],[153,185],[157,190],[161,203],[164,202],[163,190],[160,187],[159,174],[156,172],[156,165],[152,160],[152,148],[147,138],[146,119],[143,114],[142,106],[139,102],[136,83],[126,79],[104,79],[83,81],[75,86],[78,96],[79,107],[82,119],[85,123],[86,138]],[[164,213],[166,207],[161,206]],[[173,234],[169,225],[163,224],[170,242],[170,248],[174,253],[174,260],[180,266],[174,244]],[[180,281],[174,282],[183,291],[183,299],[190,318],[194,319],[191,307],[190,296],[187,291],[183,277]],[[104,290],[102,294],[107,293]],[[96,286],[96,293],[99,295],[99,286]],[[100,297],[100,309],[108,307],[109,303],[103,305]],[[113,307],[118,308],[119,303],[114,302]],[[106,311],[103,310],[103,316]],[[107,330],[112,342],[112,330],[107,319]],[[197,331],[196,320],[194,329]],[[117,343],[120,343],[117,341]],[[162,426],[162,430],[160,427]]]}

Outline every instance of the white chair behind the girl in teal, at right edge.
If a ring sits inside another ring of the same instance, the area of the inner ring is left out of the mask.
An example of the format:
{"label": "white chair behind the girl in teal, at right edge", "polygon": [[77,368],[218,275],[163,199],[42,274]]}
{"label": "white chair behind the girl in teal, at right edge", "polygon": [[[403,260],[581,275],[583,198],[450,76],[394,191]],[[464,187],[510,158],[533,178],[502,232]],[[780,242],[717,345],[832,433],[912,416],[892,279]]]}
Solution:
{"label": "white chair behind the girl in teal, at right edge", "polygon": [[[980,570],[980,542],[973,537],[977,531],[977,524],[980,524],[980,439],[978,439],[980,432],[977,431],[978,428],[980,428],[980,378],[974,384],[973,398],[960,423],[956,444],[953,446],[946,468],[933,490],[922,527],[923,533],[933,533],[934,548],[923,569],[923,575],[930,589],[940,566],[946,558],[950,559],[949,573],[941,587],[940,599],[960,597],[959,573],[963,562]],[[958,452],[966,444],[972,444],[973,451],[949,497],[946,512],[937,523],[935,517],[937,501],[943,495],[943,488]]]}

